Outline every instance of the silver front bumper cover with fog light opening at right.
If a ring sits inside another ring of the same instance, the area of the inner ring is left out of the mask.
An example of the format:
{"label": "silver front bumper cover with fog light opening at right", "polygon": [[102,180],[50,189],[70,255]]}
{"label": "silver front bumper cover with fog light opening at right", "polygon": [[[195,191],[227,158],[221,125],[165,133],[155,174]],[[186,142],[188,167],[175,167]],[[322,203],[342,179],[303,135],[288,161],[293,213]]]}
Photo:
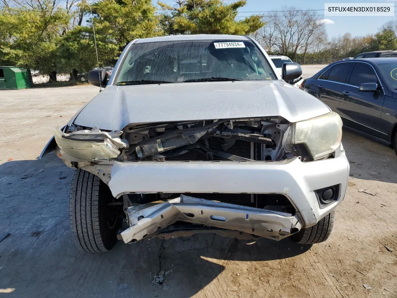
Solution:
{"label": "silver front bumper cover with fog light opening at right", "polygon": [[[117,162],[110,190],[126,193],[254,193],[283,194],[297,210],[302,227],[316,224],[341,203],[349,178],[349,162],[339,157],[303,163],[298,158],[274,162]],[[340,185],[340,195],[320,208],[315,190]]]}

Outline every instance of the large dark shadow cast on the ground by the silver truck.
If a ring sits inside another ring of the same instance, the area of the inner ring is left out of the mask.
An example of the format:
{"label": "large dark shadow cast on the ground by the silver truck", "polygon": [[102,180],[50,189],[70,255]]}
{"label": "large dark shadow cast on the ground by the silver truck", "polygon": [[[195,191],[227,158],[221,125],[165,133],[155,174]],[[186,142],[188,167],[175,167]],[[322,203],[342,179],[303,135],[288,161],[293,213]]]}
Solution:
{"label": "large dark shadow cast on the ground by the silver truck", "polygon": [[[191,297],[222,274],[227,262],[235,262],[236,273],[245,272],[247,261],[263,265],[310,249],[289,239],[202,234],[118,242],[103,254],[80,252],[69,228],[72,176],[54,154],[0,165],[0,234],[10,233],[0,240],[0,288],[15,288],[8,297]],[[162,284],[152,283],[169,270]]]}

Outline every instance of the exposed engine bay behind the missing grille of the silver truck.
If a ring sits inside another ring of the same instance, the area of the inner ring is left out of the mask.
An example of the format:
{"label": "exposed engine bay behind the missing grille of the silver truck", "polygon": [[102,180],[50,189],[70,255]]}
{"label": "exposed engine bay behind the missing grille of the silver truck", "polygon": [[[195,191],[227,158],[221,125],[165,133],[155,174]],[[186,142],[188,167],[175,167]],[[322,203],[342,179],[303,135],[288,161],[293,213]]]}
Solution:
{"label": "exposed engine bay behind the missing grille of the silver truck", "polygon": [[131,124],[121,161],[278,161],[291,156],[283,148],[289,124],[283,118],[199,120]]}

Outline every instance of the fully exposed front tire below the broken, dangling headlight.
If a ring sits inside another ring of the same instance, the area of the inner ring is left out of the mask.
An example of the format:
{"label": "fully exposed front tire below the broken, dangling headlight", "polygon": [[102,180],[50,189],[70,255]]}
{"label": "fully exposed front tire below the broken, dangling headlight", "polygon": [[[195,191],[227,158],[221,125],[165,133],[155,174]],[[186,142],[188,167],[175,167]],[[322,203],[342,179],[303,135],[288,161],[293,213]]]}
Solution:
{"label": "fully exposed front tire below the broken, dangling headlight", "polygon": [[117,242],[121,218],[109,187],[94,174],[78,169],[73,175],[69,219],[73,241],[84,252],[107,252]]}

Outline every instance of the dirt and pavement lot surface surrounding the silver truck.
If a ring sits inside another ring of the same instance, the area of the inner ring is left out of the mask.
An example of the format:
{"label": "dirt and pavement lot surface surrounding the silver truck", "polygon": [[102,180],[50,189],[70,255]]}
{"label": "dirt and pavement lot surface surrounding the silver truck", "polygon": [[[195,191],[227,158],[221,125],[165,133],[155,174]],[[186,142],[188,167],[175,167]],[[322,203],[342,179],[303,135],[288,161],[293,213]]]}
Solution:
{"label": "dirt and pavement lot surface surrounding the silver truck", "polygon": [[[309,77],[320,67],[303,69]],[[0,295],[397,297],[397,157],[347,131],[349,187],[322,244],[208,234],[78,251],[68,217],[73,170],[54,154],[37,157],[53,128],[97,93],[92,86],[0,91],[0,234],[10,233],[0,242]],[[170,269],[163,285],[151,283]]]}

